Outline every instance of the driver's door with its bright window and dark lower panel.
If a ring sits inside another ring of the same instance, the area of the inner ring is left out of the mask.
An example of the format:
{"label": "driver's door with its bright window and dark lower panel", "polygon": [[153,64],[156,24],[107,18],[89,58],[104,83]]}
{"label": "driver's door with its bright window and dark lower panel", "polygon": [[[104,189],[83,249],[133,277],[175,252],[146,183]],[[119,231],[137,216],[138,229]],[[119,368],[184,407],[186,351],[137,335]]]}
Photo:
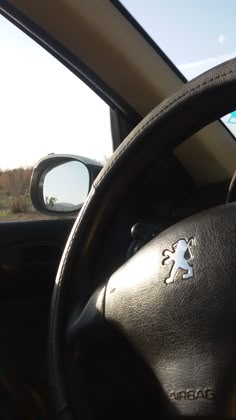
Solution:
{"label": "driver's door with its bright window and dark lower panel", "polygon": [[[0,37],[0,411],[5,418],[36,418],[50,416],[48,313],[74,217],[35,211],[29,198],[32,167],[52,152],[104,163],[113,140],[109,106],[89,87],[1,15]],[[112,111],[116,144],[129,129],[122,118]]]}

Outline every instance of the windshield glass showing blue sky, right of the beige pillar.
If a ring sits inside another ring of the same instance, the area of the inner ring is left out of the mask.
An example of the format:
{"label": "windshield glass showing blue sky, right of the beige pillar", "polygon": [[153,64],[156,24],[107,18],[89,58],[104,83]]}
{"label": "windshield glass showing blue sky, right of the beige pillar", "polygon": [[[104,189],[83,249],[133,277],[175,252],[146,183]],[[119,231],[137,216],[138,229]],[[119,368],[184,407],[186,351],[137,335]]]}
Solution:
{"label": "windshield glass showing blue sky, right of the beige pillar", "polygon": [[[187,80],[236,57],[236,1],[122,0]],[[236,111],[222,118],[236,137]]]}

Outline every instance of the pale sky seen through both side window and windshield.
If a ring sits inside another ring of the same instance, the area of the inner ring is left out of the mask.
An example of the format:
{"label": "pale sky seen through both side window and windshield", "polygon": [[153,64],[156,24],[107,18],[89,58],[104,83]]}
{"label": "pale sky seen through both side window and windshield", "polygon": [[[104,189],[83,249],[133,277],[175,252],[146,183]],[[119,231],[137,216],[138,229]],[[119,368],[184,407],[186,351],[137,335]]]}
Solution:
{"label": "pale sky seen through both side window and windshield", "polygon": [[[123,4],[187,79],[236,56],[236,0]],[[109,107],[2,16],[0,56],[0,169],[32,166],[48,153],[102,162],[111,155]],[[236,115],[223,120],[236,135]]]}

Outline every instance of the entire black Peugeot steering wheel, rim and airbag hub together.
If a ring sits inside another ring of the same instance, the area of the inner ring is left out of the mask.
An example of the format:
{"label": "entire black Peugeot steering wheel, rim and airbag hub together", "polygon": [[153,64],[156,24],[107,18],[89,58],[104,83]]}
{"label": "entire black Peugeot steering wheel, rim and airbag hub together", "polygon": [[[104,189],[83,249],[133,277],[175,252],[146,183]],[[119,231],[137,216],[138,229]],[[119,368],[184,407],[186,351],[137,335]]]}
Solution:
{"label": "entire black Peugeot steering wheel, rim and airbag hub together", "polygon": [[118,269],[103,241],[149,165],[235,108],[233,59],[150,112],[95,180],[52,298],[49,367],[59,419],[232,413],[236,205],[178,222]]}

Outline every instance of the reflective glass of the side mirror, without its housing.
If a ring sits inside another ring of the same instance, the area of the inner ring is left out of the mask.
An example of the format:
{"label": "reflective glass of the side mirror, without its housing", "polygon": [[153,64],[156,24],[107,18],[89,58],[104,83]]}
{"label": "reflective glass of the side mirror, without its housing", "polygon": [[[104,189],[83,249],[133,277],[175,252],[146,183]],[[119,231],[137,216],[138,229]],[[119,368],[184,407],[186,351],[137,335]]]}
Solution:
{"label": "reflective glass of the side mirror, without its housing", "polygon": [[84,203],[90,184],[88,168],[78,161],[52,168],[43,180],[45,207],[51,211],[76,211]]}

